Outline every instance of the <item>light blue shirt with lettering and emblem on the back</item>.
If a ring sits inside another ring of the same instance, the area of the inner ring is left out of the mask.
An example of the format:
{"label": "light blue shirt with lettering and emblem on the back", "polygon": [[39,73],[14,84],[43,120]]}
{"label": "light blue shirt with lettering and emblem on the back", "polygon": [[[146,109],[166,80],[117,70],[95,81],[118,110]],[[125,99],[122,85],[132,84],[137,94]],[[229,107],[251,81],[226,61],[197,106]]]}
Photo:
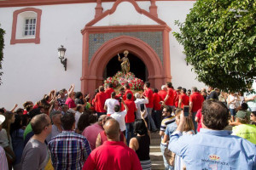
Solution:
{"label": "light blue shirt with lettering and emblem on the back", "polygon": [[172,133],[168,149],[183,157],[187,169],[256,169],[255,144],[229,131],[201,128],[196,135]]}

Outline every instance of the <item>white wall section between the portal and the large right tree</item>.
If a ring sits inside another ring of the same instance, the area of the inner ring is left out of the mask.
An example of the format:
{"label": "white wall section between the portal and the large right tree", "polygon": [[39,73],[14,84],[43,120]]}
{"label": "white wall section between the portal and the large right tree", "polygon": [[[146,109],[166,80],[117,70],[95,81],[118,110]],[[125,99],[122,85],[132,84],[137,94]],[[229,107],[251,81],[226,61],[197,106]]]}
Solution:
{"label": "white wall section between the portal and the large right tree", "polygon": [[193,8],[195,1],[157,1],[158,17],[172,28],[170,32],[170,55],[171,55],[171,74],[174,88],[178,86],[191,89],[195,86],[199,89],[204,88],[205,84],[195,80],[195,72],[191,71],[191,65],[186,65],[183,46],[180,45],[172,32],[179,31],[174,25],[175,20],[184,21],[189,9]]}

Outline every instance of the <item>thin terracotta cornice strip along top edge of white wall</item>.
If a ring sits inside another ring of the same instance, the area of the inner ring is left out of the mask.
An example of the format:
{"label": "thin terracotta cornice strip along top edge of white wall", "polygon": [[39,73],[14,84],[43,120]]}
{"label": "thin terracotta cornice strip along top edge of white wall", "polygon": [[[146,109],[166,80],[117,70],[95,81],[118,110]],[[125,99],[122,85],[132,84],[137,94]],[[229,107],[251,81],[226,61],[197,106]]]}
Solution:
{"label": "thin terracotta cornice strip along top edge of white wall", "polygon": [[[148,1],[148,0],[140,0]],[[196,0],[156,0],[156,1],[196,1]],[[103,3],[115,2],[115,0],[102,0]],[[95,0],[6,0],[0,1],[0,7],[22,7],[39,6],[55,4],[73,4],[73,3],[95,3]]]}

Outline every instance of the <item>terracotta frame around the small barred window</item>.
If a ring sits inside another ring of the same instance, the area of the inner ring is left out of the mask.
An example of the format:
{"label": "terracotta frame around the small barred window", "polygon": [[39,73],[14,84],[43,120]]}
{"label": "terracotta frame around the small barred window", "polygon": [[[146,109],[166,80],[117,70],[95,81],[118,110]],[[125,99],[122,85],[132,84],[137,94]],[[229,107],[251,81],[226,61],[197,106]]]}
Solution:
{"label": "terracotta frame around the small barred window", "polygon": [[[26,11],[33,11],[33,12],[37,13],[36,35],[35,35],[34,38],[16,39],[18,15],[20,13],[23,13],[23,12],[26,12]],[[15,43],[40,43],[41,15],[42,15],[42,10],[39,9],[39,8],[21,8],[19,10],[15,10],[15,12],[13,14],[13,26],[12,26],[12,34],[11,34],[10,44],[15,44]]]}

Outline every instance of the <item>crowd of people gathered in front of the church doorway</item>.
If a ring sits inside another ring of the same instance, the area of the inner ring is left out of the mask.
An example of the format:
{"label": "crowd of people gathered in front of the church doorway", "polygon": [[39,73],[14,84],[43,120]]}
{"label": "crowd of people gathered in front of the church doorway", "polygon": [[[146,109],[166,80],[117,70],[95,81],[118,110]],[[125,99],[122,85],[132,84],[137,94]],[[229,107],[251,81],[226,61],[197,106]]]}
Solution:
{"label": "crowd of people gathered in front of the church doorway", "polygon": [[0,109],[0,169],[147,170],[150,133],[165,170],[256,168],[255,94],[172,82],[137,93],[109,83],[93,97],[74,88]]}

